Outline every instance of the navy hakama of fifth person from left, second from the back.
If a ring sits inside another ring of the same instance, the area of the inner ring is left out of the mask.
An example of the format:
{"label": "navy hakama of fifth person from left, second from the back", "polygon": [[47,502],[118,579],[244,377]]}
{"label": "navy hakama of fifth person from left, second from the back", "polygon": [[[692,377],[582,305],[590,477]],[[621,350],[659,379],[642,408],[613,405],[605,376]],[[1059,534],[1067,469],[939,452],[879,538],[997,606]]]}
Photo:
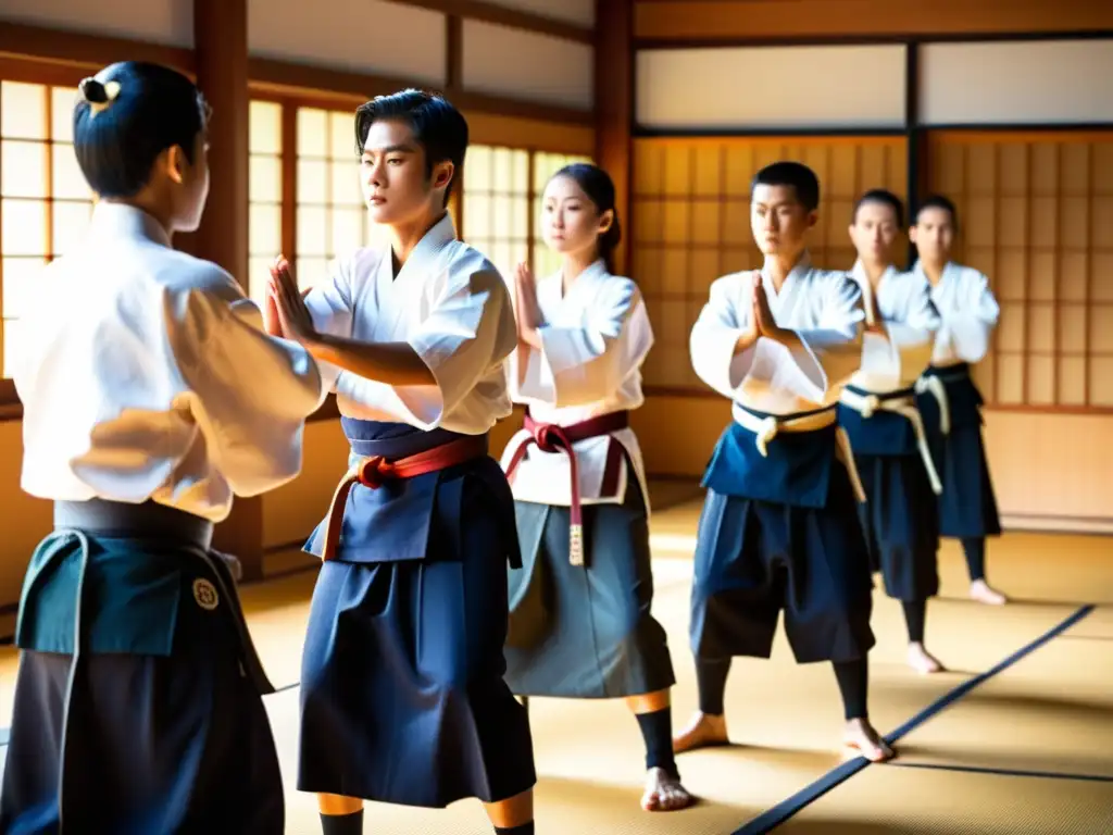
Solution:
{"label": "navy hakama of fifth person from left, second from the back", "polygon": [[[868,392],[848,386],[855,394]],[[877,396],[877,395],[875,395]],[[912,390],[880,395],[908,400]],[[885,593],[906,602],[939,592],[938,500],[912,421],[878,409],[864,418],[840,404],[839,422],[850,439],[867,501],[858,504],[870,566],[881,572]]]}

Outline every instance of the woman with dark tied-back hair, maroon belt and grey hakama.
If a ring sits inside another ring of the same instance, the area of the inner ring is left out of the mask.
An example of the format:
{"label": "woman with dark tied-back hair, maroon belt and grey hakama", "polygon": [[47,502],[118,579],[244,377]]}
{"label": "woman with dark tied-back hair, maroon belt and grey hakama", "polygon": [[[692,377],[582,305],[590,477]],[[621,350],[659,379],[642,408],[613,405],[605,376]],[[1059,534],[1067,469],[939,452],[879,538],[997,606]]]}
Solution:
{"label": "woman with dark tied-back hair, maroon belt and grey hakama", "polygon": [[650,613],[648,493],[629,425],[653,334],[638,286],[609,269],[620,239],[611,178],[562,168],[545,187],[542,228],[560,272],[534,283],[523,264],[515,276],[511,392],[529,412],[503,454],[523,562],[510,571],[506,681],[522,697],[624,698],[646,739],[642,806],[683,808],[676,679]]}

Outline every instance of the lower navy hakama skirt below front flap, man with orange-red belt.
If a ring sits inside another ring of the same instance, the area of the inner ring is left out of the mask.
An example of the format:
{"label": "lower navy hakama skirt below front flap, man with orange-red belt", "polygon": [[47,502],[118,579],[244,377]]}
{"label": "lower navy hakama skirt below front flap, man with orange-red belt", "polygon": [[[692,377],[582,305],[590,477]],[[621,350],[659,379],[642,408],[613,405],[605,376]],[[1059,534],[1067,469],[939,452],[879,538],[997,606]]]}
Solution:
{"label": "lower navy hakama skirt below front flap, man with orange-red belt", "polygon": [[535,783],[525,709],[503,681],[512,498],[476,468],[501,477],[491,459],[455,469],[424,559],[322,566],[298,789],[440,808]]}

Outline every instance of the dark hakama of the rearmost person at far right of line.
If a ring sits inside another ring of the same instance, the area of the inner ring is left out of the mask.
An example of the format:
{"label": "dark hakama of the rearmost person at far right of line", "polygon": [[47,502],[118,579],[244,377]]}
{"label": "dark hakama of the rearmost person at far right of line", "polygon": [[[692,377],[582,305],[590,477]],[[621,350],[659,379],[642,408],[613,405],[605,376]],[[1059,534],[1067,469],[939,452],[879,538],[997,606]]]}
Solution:
{"label": "dark hakama of the rearmost person at far right of line", "polygon": [[[962,366],[958,366],[962,367]],[[939,534],[954,539],[1001,534],[1001,515],[982,438],[982,394],[962,371],[943,369],[951,412],[951,432],[943,434],[939,403],[926,393],[917,397],[927,430],[932,459],[939,473]]]}

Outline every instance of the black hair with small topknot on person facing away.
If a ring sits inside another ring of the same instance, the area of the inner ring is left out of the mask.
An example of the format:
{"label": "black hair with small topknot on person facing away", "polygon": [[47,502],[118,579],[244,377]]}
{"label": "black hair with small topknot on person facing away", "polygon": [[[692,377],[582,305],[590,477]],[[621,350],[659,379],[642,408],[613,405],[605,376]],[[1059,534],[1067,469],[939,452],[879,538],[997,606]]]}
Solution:
{"label": "black hair with small topknot on person facing away", "polygon": [[73,105],[73,150],[89,187],[101,197],[134,197],[155,160],[180,147],[193,164],[208,121],[205,97],[177,70],[124,61],[81,81]]}

